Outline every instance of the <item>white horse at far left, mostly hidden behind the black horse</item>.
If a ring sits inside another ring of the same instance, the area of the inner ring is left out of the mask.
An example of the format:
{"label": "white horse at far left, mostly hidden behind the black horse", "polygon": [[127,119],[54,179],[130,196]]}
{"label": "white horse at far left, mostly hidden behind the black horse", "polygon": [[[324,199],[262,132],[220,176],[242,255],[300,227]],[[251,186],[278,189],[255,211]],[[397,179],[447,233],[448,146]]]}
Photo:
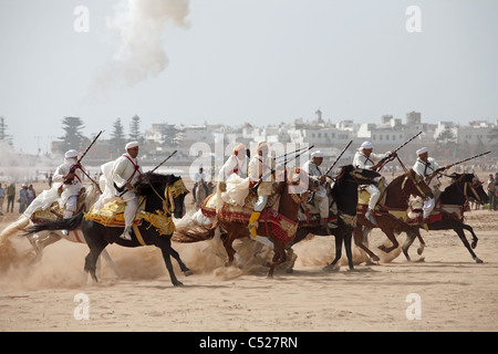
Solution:
{"label": "white horse at far left, mostly hidden behind the black horse", "polygon": [[[90,207],[95,204],[100,196],[100,190],[94,185],[90,186],[85,190],[85,201],[84,201],[84,210],[90,210]],[[10,236],[17,233],[17,232],[24,232],[24,228],[33,225],[30,218],[28,218],[25,215],[21,215],[19,219],[11,225],[9,225],[3,231],[0,233],[0,243],[3,242],[3,240],[7,240]],[[30,241],[31,246],[34,249],[35,258],[33,261],[40,261],[43,256],[43,249],[52,243],[55,243],[62,239],[66,239],[71,242],[76,243],[84,243],[86,244],[85,238],[83,237],[83,232],[81,230],[73,230],[69,232],[69,235],[63,235],[62,231],[41,231],[38,233],[29,235],[27,236],[28,240]],[[104,257],[105,261],[111,266],[114,273],[117,278],[121,278],[116,266],[114,264],[113,260],[111,259],[111,256],[107,253],[106,250],[102,251],[102,256]]]}

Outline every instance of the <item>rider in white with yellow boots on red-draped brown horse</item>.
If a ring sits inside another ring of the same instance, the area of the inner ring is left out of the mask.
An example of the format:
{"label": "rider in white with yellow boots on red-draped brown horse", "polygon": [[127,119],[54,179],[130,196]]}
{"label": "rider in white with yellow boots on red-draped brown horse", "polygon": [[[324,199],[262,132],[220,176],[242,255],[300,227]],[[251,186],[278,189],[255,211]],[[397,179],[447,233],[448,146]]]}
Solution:
{"label": "rider in white with yellow boots on red-draped brown horse", "polygon": [[252,215],[249,218],[249,231],[253,238],[256,238],[256,232],[258,228],[258,219],[261,211],[264,209],[268,196],[271,195],[272,184],[273,184],[273,169],[274,159],[269,156],[269,148],[267,142],[258,143],[258,146],[249,162],[248,177],[251,181],[249,187],[252,188],[259,183],[257,189],[258,200],[256,201]]}

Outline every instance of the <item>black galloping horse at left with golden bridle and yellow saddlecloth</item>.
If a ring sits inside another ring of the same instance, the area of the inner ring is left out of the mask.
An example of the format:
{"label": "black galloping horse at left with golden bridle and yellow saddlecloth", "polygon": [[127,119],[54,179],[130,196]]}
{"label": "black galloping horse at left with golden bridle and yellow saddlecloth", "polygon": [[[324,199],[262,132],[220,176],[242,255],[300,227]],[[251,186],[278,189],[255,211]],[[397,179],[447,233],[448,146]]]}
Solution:
{"label": "black galloping horse at left with golden bridle and yellow saddlecloth", "polygon": [[[172,214],[175,218],[183,218],[185,215],[185,196],[188,194],[181,177],[174,175],[146,174],[145,180],[136,187],[137,196],[145,197],[145,211],[156,214],[160,210],[164,216],[169,217]],[[92,278],[97,281],[95,269],[96,261],[102,250],[108,243],[117,243],[123,247],[141,247],[144,244],[154,244],[160,248],[166,268],[169,272],[173,285],[183,285],[176,279],[173,270],[170,256],[175,258],[186,275],[190,275],[191,271],[184,264],[178,252],[172,248],[172,233],[162,235],[157,229],[157,222],[143,220],[137,227],[139,235],[132,232],[132,240],[127,241],[120,236],[123,228],[105,227],[98,222],[87,220],[83,214],[79,214],[70,219],[54,221],[50,223],[37,225],[28,229],[28,233],[34,233],[42,230],[74,230],[81,226],[90,253],[85,258],[85,271],[90,272]]]}

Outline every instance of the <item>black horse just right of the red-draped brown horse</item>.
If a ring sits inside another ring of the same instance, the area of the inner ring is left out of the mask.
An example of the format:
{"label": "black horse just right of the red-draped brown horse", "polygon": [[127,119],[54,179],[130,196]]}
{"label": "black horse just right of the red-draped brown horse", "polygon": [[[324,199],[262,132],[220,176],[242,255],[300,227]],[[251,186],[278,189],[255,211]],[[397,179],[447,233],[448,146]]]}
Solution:
{"label": "black horse just right of the red-draped brown horse", "polygon": [[[335,259],[324,270],[331,271],[335,269],[335,264],[342,257],[343,243],[347,257],[347,264],[350,269],[354,269],[351,238],[356,223],[357,187],[359,185],[373,184],[373,179],[380,176],[378,173],[371,169],[355,168],[353,165],[342,166],[329,194],[329,205],[333,200],[338,206],[338,227],[328,230],[320,225],[309,226],[300,222],[295,238],[289,248],[303,240],[309,233],[317,236],[333,235],[335,237]],[[291,271],[291,269],[288,269],[288,271]]]}

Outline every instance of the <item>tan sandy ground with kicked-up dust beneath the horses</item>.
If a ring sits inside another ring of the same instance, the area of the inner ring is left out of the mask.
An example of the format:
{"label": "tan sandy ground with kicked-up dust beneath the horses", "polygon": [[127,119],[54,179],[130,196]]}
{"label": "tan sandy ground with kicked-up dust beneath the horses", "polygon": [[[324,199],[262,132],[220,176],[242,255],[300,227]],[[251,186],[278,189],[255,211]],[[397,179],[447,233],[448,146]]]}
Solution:
{"label": "tan sandy ground with kicked-up dust beneath the horses", "polygon": [[[18,216],[0,217],[0,229]],[[395,250],[380,264],[332,273],[322,269],[334,239],[315,237],[294,247],[294,273],[278,271],[274,279],[259,262],[225,267],[216,240],[174,243],[194,271],[185,277],[175,263],[180,288],[155,247],[107,247],[121,279],[103,262],[95,284],[83,272],[85,244],[61,240],[33,263],[30,243],[12,237],[0,249],[0,331],[497,331],[498,212],[473,210],[467,223],[479,237],[483,264],[452,230],[422,231],[422,261],[415,241],[413,262]],[[371,249],[384,240],[374,230]]]}

